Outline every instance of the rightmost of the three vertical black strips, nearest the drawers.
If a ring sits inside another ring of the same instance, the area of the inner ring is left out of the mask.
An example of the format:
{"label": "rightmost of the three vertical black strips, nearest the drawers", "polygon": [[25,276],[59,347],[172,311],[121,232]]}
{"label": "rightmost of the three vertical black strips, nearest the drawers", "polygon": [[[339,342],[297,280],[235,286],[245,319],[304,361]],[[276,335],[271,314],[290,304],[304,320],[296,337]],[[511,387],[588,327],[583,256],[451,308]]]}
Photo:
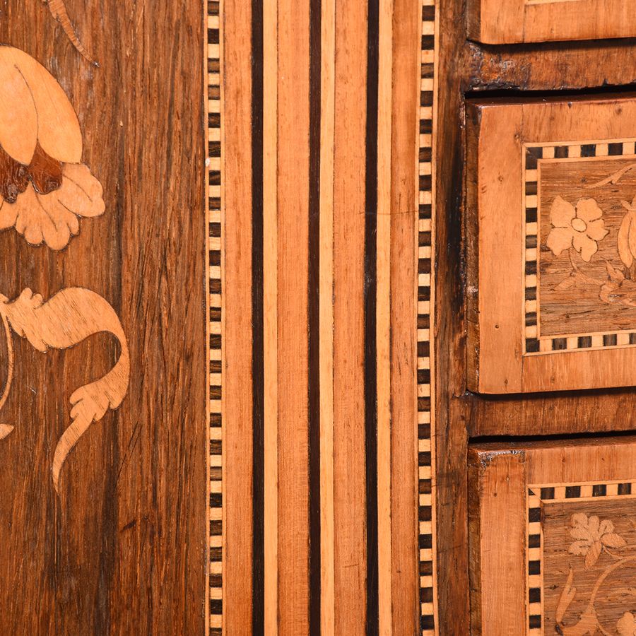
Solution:
{"label": "rightmost of the three vertical black strips, nearest the drawers", "polygon": [[365,452],[367,495],[367,636],[379,632],[377,546],[377,107],[379,0],[369,0],[365,165]]}

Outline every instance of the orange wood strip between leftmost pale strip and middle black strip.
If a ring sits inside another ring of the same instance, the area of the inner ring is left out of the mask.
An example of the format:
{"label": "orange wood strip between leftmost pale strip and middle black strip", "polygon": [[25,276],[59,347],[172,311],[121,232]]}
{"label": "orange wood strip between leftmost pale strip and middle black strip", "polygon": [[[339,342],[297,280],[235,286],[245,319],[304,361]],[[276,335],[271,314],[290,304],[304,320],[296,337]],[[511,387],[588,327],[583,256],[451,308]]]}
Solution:
{"label": "orange wood strip between leftmost pale strip and middle black strip", "polygon": [[309,633],[309,137],[310,0],[278,0],[278,630],[290,636]]}

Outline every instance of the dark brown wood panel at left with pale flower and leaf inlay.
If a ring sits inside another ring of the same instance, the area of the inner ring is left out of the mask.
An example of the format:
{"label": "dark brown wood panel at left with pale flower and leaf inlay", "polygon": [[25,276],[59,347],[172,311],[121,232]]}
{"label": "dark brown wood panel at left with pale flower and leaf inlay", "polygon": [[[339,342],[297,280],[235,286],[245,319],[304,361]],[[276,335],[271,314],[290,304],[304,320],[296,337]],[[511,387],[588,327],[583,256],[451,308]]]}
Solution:
{"label": "dark brown wood panel at left with pale flower and leaf inlay", "polygon": [[0,631],[201,633],[202,6],[66,4],[0,25]]}

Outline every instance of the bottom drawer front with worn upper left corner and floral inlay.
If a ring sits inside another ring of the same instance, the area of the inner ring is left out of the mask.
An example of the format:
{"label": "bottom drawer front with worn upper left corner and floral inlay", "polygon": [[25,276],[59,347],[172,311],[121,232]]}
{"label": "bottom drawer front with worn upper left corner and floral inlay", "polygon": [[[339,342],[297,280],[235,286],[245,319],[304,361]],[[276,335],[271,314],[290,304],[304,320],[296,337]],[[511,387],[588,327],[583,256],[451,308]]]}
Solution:
{"label": "bottom drawer front with worn upper left corner and floral inlay", "polygon": [[473,634],[632,634],[636,440],[471,450]]}

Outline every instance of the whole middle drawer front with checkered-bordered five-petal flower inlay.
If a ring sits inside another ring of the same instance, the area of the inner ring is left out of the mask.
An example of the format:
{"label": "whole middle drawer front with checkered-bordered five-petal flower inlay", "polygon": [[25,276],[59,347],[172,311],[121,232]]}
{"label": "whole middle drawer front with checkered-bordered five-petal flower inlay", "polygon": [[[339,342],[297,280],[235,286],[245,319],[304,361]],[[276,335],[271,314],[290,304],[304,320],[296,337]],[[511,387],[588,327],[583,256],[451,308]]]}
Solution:
{"label": "whole middle drawer front with checkered-bordered five-petal flower inlay", "polygon": [[469,387],[636,381],[636,101],[469,107]]}

